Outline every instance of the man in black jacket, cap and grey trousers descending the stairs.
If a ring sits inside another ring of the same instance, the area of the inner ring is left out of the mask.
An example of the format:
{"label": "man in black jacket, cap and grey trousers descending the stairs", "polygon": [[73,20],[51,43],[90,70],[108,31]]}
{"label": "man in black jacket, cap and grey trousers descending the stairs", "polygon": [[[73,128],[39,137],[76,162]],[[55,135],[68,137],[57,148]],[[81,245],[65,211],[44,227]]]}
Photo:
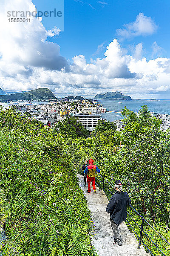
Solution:
{"label": "man in black jacket, cap and grey trousers descending the stairs", "polygon": [[[114,234],[114,243],[122,245],[122,238],[119,233],[119,224],[127,218],[127,207],[130,206],[131,201],[127,192],[122,191],[122,182],[115,181],[116,192],[112,195],[108,203],[106,212],[110,213],[111,227]],[[114,244],[113,243],[113,244]]]}

